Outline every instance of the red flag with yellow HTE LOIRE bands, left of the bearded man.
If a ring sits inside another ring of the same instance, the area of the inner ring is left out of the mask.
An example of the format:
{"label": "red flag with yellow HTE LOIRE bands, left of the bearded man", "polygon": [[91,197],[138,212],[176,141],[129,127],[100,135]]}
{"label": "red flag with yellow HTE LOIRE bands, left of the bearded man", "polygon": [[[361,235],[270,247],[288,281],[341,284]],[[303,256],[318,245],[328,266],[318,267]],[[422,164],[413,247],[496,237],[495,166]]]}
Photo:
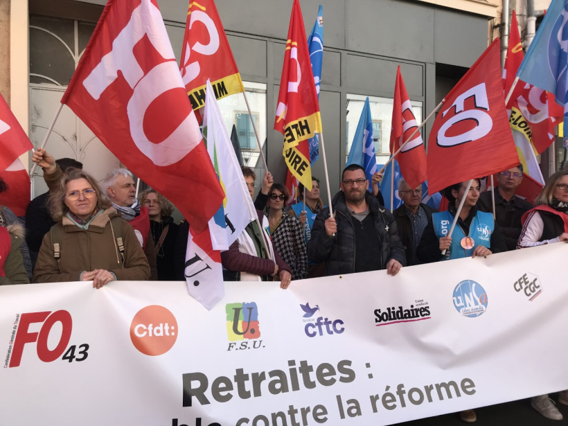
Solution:
{"label": "red flag with yellow HTE LOIRE bands, left of the bearded man", "polygon": [[292,6],[274,130],[284,135],[283,155],[288,170],[311,190],[308,139],[321,133],[321,116],[298,0]]}

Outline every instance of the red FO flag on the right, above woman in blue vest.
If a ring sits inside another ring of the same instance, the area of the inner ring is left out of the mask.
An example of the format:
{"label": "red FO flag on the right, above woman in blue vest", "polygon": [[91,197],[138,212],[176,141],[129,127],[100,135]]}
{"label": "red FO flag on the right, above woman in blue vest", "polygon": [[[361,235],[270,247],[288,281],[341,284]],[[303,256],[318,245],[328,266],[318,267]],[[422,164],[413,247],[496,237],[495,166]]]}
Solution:
{"label": "red FO flag on the right, above woman in blue vest", "polygon": [[517,166],[499,76],[499,39],[443,100],[428,141],[428,191]]}

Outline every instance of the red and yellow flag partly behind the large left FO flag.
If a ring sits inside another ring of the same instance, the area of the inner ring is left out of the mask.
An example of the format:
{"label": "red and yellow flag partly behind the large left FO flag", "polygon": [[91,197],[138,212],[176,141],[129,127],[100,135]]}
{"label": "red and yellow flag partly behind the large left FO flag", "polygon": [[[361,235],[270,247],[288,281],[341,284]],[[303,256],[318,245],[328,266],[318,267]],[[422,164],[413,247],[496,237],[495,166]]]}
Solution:
{"label": "red and yellow flag partly behind the large left FO flag", "polygon": [[245,91],[213,0],[190,0],[179,69],[191,106],[205,105],[207,79],[215,98]]}

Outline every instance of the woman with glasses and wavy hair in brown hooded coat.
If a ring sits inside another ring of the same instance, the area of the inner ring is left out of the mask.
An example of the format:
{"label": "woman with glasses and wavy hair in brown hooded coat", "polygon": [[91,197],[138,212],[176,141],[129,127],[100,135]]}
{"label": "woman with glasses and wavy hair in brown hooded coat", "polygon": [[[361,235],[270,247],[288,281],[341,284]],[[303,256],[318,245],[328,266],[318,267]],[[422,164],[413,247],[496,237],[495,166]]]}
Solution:
{"label": "woman with glasses and wavy hair in brown hooded coat", "polygon": [[49,197],[56,224],[46,233],[35,265],[34,283],[150,278],[150,267],[134,229],[121,219],[94,177],[71,170]]}

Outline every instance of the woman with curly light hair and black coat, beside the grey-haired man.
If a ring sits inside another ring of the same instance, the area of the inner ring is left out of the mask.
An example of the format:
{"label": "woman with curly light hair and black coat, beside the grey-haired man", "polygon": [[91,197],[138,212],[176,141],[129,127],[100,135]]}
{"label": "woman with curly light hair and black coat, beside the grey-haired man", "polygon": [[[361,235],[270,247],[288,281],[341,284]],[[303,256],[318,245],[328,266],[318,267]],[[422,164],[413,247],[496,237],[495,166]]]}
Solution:
{"label": "woman with curly light hair and black coat, beside the grey-haired man", "polygon": [[174,205],[154,189],[147,189],[138,195],[141,206],[148,207],[150,233],[154,240],[154,251],[159,281],[175,281],[174,252],[179,225],[174,223]]}

